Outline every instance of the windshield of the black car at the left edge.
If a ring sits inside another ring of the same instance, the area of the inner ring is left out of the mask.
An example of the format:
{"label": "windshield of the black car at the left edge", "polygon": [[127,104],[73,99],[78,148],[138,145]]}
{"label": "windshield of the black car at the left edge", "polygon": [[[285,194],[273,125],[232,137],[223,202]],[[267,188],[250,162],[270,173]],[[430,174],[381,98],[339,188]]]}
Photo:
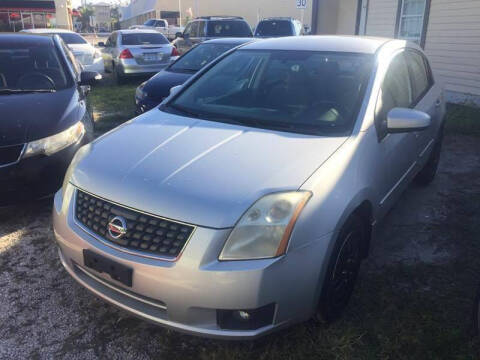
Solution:
{"label": "windshield of the black car at the left edge", "polygon": [[[65,68],[53,45],[6,43],[0,47],[0,94],[23,90],[61,90],[68,87]],[[13,90],[13,91],[10,91]]]}

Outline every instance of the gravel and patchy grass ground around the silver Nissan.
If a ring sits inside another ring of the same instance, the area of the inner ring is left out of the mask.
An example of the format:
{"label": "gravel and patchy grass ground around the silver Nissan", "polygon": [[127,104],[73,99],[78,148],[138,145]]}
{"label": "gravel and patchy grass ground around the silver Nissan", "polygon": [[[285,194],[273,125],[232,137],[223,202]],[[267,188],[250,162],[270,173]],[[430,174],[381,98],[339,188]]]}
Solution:
{"label": "gravel and patchy grass ground around the silver Nissan", "polygon": [[0,359],[478,356],[478,137],[448,135],[434,183],[410,186],[387,216],[344,319],[253,343],[181,335],[97,299],[62,268],[50,212],[51,200],[0,210]]}

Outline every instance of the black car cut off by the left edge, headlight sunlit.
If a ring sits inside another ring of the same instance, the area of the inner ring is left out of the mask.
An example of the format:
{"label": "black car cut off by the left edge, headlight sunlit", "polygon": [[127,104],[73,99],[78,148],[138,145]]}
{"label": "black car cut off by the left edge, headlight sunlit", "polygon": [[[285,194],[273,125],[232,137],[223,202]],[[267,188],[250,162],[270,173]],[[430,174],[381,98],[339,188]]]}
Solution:
{"label": "black car cut off by the left edge, headlight sunlit", "polygon": [[0,206],[60,188],[93,138],[86,95],[100,78],[57,35],[0,34]]}

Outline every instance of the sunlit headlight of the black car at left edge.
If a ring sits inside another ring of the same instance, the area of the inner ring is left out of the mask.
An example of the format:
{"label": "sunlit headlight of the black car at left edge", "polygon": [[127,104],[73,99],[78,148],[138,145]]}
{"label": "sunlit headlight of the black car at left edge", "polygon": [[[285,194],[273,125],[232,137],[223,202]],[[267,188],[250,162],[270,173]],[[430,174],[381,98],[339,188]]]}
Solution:
{"label": "sunlit headlight of the black car at left edge", "polygon": [[40,154],[47,156],[52,155],[57,151],[65,149],[67,146],[76,143],[78,140],[80,140],[84,133],[85,129],[83,127],[83,123],[79,121],[61,133],[29,142],[23,157],[27,158]]}

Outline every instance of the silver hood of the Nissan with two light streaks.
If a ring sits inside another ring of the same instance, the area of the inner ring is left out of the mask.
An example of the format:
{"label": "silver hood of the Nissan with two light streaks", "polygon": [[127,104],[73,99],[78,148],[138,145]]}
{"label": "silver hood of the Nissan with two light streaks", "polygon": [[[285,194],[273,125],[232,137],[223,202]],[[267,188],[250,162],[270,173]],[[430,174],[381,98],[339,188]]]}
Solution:
{"label": "silver hood of the Nissan with two light streaks", "polygon": [[88,145],[70,181],[151,214],[228,228],[261,196],[298,189],[345,140],[153,110]]}

